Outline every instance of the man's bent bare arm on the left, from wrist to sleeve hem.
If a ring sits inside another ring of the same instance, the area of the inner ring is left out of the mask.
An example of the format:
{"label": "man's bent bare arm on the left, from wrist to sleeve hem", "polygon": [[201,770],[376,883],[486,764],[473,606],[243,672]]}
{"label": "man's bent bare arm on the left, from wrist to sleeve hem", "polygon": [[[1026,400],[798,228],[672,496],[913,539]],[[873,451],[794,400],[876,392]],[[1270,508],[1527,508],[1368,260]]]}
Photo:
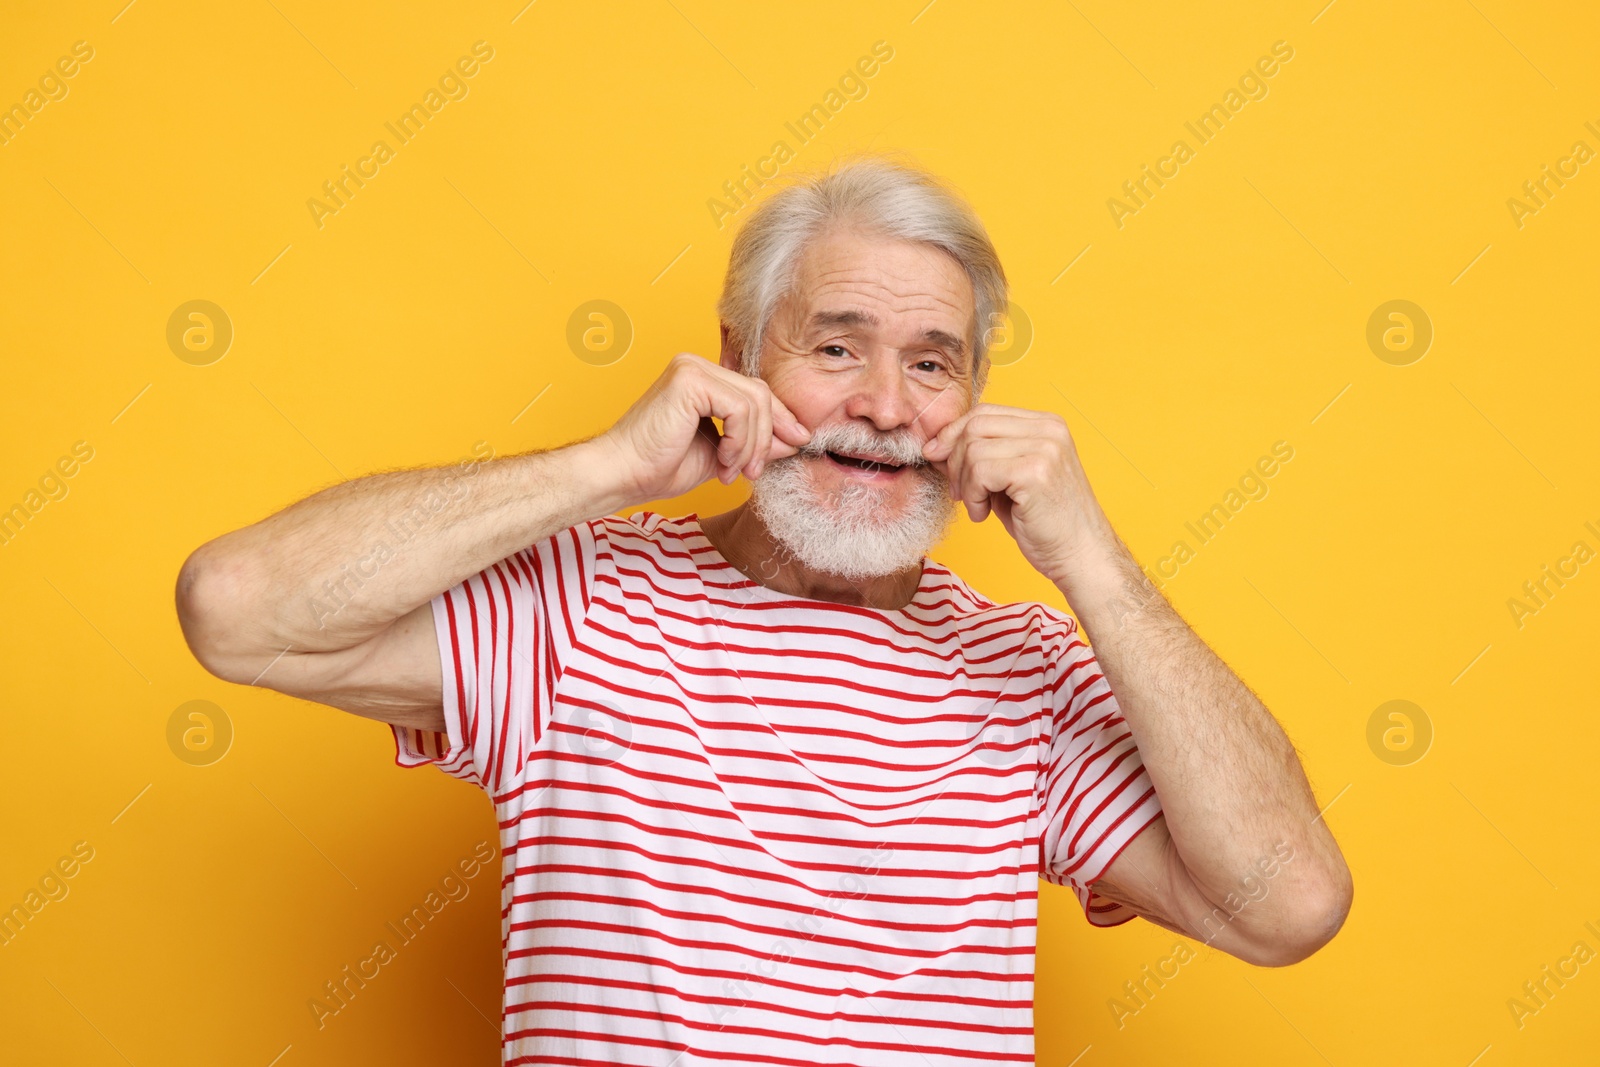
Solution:
{"label": "man's bent bare arm on the left, from wrist to sleeve hem", "polygon": [[603,435],[322,490],[195,549],[178,621],[219,678],[443,729],[434,597],[632,504]]}

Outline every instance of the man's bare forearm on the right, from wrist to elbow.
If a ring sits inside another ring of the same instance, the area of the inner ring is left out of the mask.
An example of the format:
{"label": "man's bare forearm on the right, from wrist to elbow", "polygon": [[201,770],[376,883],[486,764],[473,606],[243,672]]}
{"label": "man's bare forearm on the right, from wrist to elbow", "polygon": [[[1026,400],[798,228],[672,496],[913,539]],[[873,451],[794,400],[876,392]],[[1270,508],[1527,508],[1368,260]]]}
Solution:
{"label": "man's bare forearm on the right, from wrist to elbow", "polygon": [[[1059,585],[1133,731],[1189,875],[1213,902],[1291,846],[1267,926],[1323,907],[1344,859],[1272,713],[1173,609],[1115,534]],[[1240,920],[1246,921],[1246,920]]]}

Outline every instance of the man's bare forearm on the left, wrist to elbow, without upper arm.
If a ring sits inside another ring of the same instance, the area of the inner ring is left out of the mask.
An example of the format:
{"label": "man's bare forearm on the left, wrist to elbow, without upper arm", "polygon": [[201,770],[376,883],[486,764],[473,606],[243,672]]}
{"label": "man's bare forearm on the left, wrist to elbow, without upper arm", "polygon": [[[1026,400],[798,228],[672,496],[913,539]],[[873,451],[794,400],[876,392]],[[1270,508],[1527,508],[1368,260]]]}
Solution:
{"label": "man's bare forearm on the left, wrist to elbow, without upper arm", "polygon": [[630,504],[613,466],[590,438],[331,486],[195,550],[178,585],[186,633],[219,662],[352,648],[491,563]]}

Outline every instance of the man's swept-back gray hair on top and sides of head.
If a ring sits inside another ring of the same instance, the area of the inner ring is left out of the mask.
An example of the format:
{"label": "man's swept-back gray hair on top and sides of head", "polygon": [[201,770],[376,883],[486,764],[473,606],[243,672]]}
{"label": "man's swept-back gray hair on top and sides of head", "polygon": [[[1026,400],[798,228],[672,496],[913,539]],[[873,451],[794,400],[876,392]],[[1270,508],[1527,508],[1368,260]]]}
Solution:
{"label": "man's swept-back gray hair on top and sides of head", "polygon": [[806,245],[834,224],[949,253],[973,283],[973,398],[989,379],[990,326],[1010,306],[1005,270],[978,213],[949,184],[888,155],[853,155],[763,200],[728,256],[717,315],[739,346],[739,370],[760,374],[778,304],[794,293]]}

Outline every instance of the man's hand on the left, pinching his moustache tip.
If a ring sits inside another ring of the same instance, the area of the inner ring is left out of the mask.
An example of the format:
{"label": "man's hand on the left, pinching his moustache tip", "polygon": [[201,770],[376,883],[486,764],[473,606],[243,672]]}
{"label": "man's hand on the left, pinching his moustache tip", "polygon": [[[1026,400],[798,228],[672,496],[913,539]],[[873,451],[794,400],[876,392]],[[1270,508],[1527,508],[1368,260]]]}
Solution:
{"label": "man's hand on the left, pinching his moustache tip", "polygon": [[[712,418],[722,419],[722,432]],[[602,434],[629,506],[662,501],[717,477],[760,477],[811,440],[765,381],[680,352],[645,395]]]}

